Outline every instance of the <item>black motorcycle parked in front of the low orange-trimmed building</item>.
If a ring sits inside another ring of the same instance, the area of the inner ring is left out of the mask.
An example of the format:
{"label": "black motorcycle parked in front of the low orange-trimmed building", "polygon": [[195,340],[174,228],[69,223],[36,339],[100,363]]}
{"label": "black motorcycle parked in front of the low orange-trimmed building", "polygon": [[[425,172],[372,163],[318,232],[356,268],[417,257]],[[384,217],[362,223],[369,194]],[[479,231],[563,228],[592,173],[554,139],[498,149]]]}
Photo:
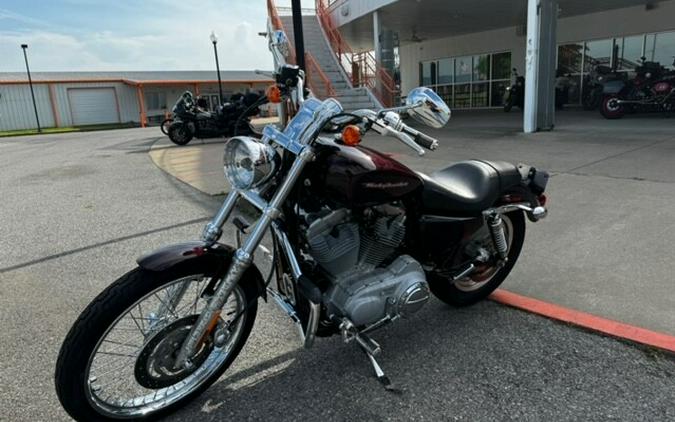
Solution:
{"label": "black motorcycle parked in front of the low orange-trimmed building", "polygon": [[266,102],[264,95],[235,94],[230,102],[207,111],[206,104],[195,101],[190,91],[185,91],[173,106],[173,121],[168,127],[169,139],[176,145],[186,145],[192,138],[251,135],[251,117],[260,112]]}

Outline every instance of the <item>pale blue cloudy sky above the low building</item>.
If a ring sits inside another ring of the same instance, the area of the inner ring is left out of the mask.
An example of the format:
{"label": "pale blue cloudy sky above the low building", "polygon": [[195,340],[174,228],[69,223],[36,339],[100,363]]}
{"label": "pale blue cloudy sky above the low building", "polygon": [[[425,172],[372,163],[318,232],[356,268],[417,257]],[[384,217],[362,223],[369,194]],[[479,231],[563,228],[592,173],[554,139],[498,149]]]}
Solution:
{"label": "pale blue cloudy sky above the low building", "polygon": [[221,70],[271,69],[266,20],[265,0],[0,0],[0,72],[24,43],[32,72],[211,70],[212,30]]}

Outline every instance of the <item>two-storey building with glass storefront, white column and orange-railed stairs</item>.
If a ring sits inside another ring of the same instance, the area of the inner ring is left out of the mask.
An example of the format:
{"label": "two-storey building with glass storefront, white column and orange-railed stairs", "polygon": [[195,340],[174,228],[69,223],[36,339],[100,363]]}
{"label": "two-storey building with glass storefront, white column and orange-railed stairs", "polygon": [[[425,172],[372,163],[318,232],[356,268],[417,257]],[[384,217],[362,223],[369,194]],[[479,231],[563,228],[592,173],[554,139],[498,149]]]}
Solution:
{"label": "two-storey building with glass storefront, white column and orange-railed stairs", "polygon": [[674,0],[316,0],[315,13],[304,25],[313,34],[318,22],[326,42],[305,36],[309,53],[324,56],[327,44],[346,82],[381,103],[392,79],[402,95],[429,86],[455,109],[500,107],[515,68],[526,76],[528,132],[553,127],[557,74],[569,75],[569,102],[579,104],[596,65],[630,72],[645,57],[672,69],[675,56]]}

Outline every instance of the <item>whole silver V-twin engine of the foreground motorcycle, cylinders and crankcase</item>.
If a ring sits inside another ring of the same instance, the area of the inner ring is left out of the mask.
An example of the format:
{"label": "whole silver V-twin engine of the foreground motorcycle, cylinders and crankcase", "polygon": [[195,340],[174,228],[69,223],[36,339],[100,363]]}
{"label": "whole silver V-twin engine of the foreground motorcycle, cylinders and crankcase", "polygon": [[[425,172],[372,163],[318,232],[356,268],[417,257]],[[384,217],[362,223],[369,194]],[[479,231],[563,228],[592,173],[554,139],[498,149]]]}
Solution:
{"label": "whole silver V-twin engine of the foreground motorcycle, cylinders and crankcase", "polygon": [[312,216],[306,240],[309,253],[331,281],[329,313],[356,326],[418,311],[429,299],[422,266],[408,255],[396,256],[405,237],[405,213],[380,205],[362,215],[338,209]]}

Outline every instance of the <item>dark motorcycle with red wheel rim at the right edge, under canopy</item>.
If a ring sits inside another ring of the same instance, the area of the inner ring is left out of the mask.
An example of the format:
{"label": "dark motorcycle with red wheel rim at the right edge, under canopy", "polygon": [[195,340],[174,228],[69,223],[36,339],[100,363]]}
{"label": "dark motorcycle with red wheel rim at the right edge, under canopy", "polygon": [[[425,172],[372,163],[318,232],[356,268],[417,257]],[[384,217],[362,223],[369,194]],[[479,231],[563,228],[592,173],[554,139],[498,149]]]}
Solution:
{"label": "dark motorcycle with red wheel rim at the right edge, under canopy", "polygon": [[643,57],[635,72],[632,80],[604,84],[600,113],[606,119],[620,119],[627,110],[663,113],[675,110],[675,71],[668,71],[658,62],[645,61]]}

